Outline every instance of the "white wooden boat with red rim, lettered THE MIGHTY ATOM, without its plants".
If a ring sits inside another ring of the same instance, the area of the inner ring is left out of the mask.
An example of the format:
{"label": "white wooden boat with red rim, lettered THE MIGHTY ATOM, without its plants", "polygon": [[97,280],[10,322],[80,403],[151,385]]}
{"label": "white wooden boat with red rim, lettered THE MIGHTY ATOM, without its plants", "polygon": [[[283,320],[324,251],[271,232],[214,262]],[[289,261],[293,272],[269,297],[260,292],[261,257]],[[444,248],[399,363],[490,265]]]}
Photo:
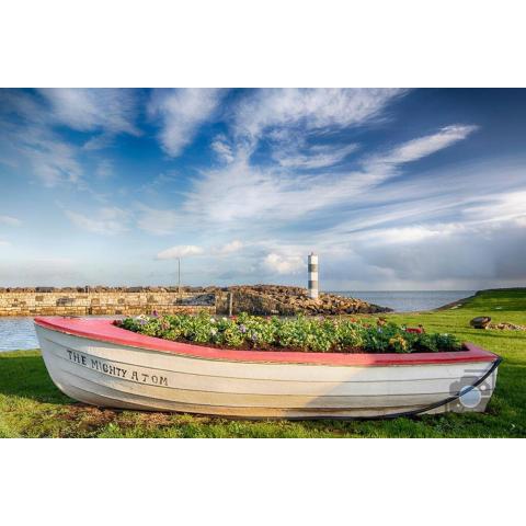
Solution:
{"label": "white wooden boat with red rim, lettered THE MIGHTY ATOM, without its plants", "polygon": [[[36,318],[53,381],[99,407],[250,419],[484,411],[499,356],[236,351],[145,336],[107,319]],[[474,387],[473,387],[474,386]]]}

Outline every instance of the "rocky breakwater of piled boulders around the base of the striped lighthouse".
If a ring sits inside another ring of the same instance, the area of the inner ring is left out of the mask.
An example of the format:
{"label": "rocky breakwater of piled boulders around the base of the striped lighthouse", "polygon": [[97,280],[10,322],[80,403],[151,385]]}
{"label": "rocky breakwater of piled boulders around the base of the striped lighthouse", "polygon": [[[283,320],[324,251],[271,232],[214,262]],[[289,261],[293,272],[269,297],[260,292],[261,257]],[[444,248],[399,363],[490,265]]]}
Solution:
{"label": "rocky breakwater of piled boulders around the base of the striped lighthouse", "polygon": [[389,312],[391,309],[368,304],[356,298],[345,298],[333,294],[320,294],[311,299],[307,290],[300,287],[279,285],[232,286],[216,293],[216,309],[228,311],[229,294],[232,295],[232,313],[295,316],[323,315],[341,316],[356,313]]}

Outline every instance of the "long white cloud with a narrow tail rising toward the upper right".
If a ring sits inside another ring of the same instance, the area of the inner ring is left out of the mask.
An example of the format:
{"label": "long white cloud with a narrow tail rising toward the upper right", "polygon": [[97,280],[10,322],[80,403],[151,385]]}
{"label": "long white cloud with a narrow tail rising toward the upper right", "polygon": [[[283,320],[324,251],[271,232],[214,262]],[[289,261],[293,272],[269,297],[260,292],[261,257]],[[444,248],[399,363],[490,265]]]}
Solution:
{"label": "long white cloud with a narrow tail rising toward the upper right", "polygon": [[369,158],[362,170],[352,172],[298,175],[290,170],[253,167],[247,158],[237,159],[220,169],[202,172],[186,195],[183,213],[214,228],[251,220],[255,221],[252,227],[259,228],[315,213],[334,216],[339,206],[348,208],[355,203],[359,207],[364,199],[370,199],[374,188],[397,175],[397,169],[408,159],[447,148],[472,129],[444,128],[416,139],[418,147],[413,140],[402,144],[384,157],[376,157],[374,162]]}

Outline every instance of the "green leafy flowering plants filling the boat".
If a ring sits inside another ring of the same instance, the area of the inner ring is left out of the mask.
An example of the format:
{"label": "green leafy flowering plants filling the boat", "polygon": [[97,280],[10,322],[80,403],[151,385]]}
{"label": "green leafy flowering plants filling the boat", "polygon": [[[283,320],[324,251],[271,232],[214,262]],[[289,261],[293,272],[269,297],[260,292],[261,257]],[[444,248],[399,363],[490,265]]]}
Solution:
{"label": "green leafy flowering plants filling the boat", "polygon": [[232,348],[290,348],[305,352],[414,353],[458,351],[451,334],[408,332],[382,319],[376,323],[336,318],[264,318],[245,313],[232,318],[175,315],[127,318],[118,325],[165,340]]}

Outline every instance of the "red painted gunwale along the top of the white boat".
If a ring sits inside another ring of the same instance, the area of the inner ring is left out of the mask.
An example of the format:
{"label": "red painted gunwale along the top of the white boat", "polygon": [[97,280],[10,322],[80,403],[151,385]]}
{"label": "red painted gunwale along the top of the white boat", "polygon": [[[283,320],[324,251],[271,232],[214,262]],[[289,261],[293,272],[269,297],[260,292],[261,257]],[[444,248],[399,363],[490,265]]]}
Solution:
{"label": "red painted gunwale along the top of the white boat", "polygon": [[220,359],[229,362],[275,363],[275,364],[309,364],[309,365],[340,365],[340,366],[385,366],[385,365],[431,365],[455,364],[469,362],[494,362],[498,356],[477,347],[472,343],[465,343],[466,351],[450,353],[378,353],[378,354],[344,354],[344,353],[302,353],[290,351],[237,351],[228,348],[205,347],[188,343],[171,342],[160,338],[146,336],[136,332],[121,329],[113,324],[111,319],[94,318],[35,318],[37,325],[87,338],[101,342],[108,342],[126,347],[160,351],[184,356],[205,359]]}

